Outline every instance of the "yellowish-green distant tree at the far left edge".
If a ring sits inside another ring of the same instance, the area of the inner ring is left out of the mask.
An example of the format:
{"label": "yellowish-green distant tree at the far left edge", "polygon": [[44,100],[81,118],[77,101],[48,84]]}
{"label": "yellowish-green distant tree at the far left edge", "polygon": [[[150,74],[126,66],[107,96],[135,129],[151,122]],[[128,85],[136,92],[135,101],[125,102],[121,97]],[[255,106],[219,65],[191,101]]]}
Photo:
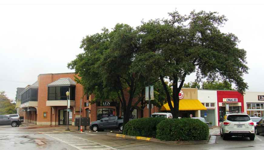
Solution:
{"label": "yellowish-green distant tree at the far left edge", "polygon": [[5,94],[5,91],[0,92],[0,115],[16,113],[15,104]]}

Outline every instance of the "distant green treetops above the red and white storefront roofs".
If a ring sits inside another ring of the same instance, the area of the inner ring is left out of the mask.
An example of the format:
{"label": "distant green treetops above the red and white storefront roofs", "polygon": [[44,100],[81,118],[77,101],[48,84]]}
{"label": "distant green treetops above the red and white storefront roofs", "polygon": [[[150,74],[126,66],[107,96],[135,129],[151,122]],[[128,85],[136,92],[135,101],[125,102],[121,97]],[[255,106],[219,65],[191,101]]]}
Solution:
{"label": "distant green treetops above the red and white storefront roofs", "polygon": [[228,81],[205,81],[202,83],[202,89],[206,90],[235,90],[232,89],[232,84]]}

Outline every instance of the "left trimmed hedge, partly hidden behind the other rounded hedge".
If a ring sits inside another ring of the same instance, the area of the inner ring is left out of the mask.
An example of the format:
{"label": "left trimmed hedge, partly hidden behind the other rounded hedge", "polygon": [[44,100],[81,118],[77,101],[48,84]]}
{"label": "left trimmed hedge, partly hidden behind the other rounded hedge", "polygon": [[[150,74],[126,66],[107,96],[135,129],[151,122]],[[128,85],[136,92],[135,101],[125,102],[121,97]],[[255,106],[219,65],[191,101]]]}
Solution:
{"label": "left trimmed hedge, partly hidden behind the other rounded hedge", "polygon": [[129,136],[156,135],[156,126],[165,118],[150,117],[130,120],[126,123],[123,134]]}

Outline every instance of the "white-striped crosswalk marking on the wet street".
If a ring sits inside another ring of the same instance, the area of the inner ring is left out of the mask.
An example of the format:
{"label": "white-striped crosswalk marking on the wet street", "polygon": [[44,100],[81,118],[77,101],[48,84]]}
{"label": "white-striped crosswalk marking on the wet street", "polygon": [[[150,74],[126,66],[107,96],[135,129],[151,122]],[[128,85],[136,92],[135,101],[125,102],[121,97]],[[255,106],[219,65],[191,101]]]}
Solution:
{"label": "white-striped crosswalk marking on the wet street", "polygon": [[[68,145],[71,145],[72,147],[75,147],[79,150],[85,150],[85,149],[89,149],[89,150],[119,150],[119,149],[115,149],[112,148],[110,146],[107,145],[103,145],[97,142],[93,142],[87,139],[83,139],[80,138],[78,136],[73,136],[70,134],[65,134],[65,133],[56,133],[56,134],[52,134],[52,133],[46,133],[46,132],[41,132],[47,136],[50,136],[54,139],[57,139],[61,142],[64,142]],[[76,141],[76,142],[75,142]]]}

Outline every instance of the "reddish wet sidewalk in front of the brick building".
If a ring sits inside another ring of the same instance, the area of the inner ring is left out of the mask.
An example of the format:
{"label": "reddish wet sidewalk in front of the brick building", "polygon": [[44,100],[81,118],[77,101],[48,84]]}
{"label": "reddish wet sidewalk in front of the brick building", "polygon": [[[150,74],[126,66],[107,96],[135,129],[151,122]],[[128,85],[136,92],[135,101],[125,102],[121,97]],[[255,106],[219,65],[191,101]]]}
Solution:
{"label": "reddish wet sidewalk in front of the brick building", "polygon": [[[19,130],[21,131],[40,131],[40,132],[79,132],[78,126],[72,126],[69,125],[70,131],[65,131],[66,125],[36,125],[33,123],[22,123],[19,127]],[[82,132],[85,131],[91,131],[89,129],[89,126],[86,127],[87,130],[85,130],[85,127],[82,127]]]}

